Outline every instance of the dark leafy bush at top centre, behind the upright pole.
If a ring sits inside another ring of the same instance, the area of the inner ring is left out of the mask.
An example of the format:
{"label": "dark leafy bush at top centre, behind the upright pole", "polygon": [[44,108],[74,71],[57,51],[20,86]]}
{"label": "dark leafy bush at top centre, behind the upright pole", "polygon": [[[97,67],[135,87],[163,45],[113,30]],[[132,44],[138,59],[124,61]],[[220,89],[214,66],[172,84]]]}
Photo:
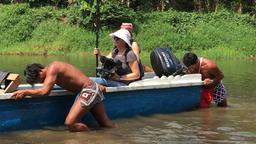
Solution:
{"label": "dark leafy bush at top centre, behind the upright pole", "polygon": [[[96,0],[83,1],[80,0],[76,8],[71,8],[71,16],[69,20],[72,23],[77,23],[81,27],[95,30],[96,22]],[[128,9],[121,5],[102,1],[100,4],[100,25],[102,27],[116,28],[122,22],[133,22],[136,17],[132,9]]]}

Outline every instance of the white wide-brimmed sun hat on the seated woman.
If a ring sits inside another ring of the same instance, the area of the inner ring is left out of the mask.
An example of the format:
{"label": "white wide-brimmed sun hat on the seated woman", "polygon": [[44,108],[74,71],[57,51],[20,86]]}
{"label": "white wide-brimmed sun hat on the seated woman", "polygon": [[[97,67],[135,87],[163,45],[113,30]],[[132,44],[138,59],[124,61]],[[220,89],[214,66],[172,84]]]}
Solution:
{"label": "white wide-brimmed sun hat on the seated woman", "polygon": [[118,31],[111,33],[110,34],[111,38],[114,39],[114,37],[118,37],[125,41],[130,47],[131,46],[131,34],[128,30],[126,29],[119,29]]}

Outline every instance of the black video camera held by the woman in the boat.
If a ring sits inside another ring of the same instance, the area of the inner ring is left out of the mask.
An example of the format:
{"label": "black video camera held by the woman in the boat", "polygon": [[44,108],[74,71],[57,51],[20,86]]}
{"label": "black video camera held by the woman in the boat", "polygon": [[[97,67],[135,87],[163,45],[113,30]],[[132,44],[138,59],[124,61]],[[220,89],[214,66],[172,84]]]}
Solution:
{"label": "black video camera held by the woman in the boat", "polygon": [[117,69],[117,64],[113,59],[107,58],[105,56],[101,56],[100,61],[102,66],[97,67],[97,76],[110,79]]}

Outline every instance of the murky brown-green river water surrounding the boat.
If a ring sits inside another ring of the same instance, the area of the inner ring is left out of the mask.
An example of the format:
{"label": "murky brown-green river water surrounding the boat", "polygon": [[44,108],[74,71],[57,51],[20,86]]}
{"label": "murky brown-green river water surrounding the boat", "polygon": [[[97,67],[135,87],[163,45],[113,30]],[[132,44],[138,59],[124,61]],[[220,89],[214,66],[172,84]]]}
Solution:
{"label": "murky brown-green river water surrounding the boat", "polygon": [[[26,64],[62,60],[88,76],[95,72],[92,56],[1,56],[1,68],[22,74]],[[146,62],[149,63],[149,62]],[[228,89],[227,108],[211,108],[176,114],[136,116],[114,120],[117,128],[93,128],[71,133],[66,127],[0,134],[1,144],[254,144],[256,143],[256,61],[218,60]]]}

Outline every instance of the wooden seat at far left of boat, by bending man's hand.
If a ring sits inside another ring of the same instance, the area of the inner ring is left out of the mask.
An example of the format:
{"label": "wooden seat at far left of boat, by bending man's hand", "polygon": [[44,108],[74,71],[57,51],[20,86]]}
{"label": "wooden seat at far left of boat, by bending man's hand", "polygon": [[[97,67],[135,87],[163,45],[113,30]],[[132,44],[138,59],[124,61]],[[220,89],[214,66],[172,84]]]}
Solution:
{"label": "wooden seat at far left of boat, by bending man's hand", "polygon": [[[3,80],[4,81],[4,88],[1,87],[0,94],[3,93],[10,93],[17,89],[19,84],[21,83],[21,78],[19,74],[9,73]],[[1,85],[2,86],[2,85]]]}

